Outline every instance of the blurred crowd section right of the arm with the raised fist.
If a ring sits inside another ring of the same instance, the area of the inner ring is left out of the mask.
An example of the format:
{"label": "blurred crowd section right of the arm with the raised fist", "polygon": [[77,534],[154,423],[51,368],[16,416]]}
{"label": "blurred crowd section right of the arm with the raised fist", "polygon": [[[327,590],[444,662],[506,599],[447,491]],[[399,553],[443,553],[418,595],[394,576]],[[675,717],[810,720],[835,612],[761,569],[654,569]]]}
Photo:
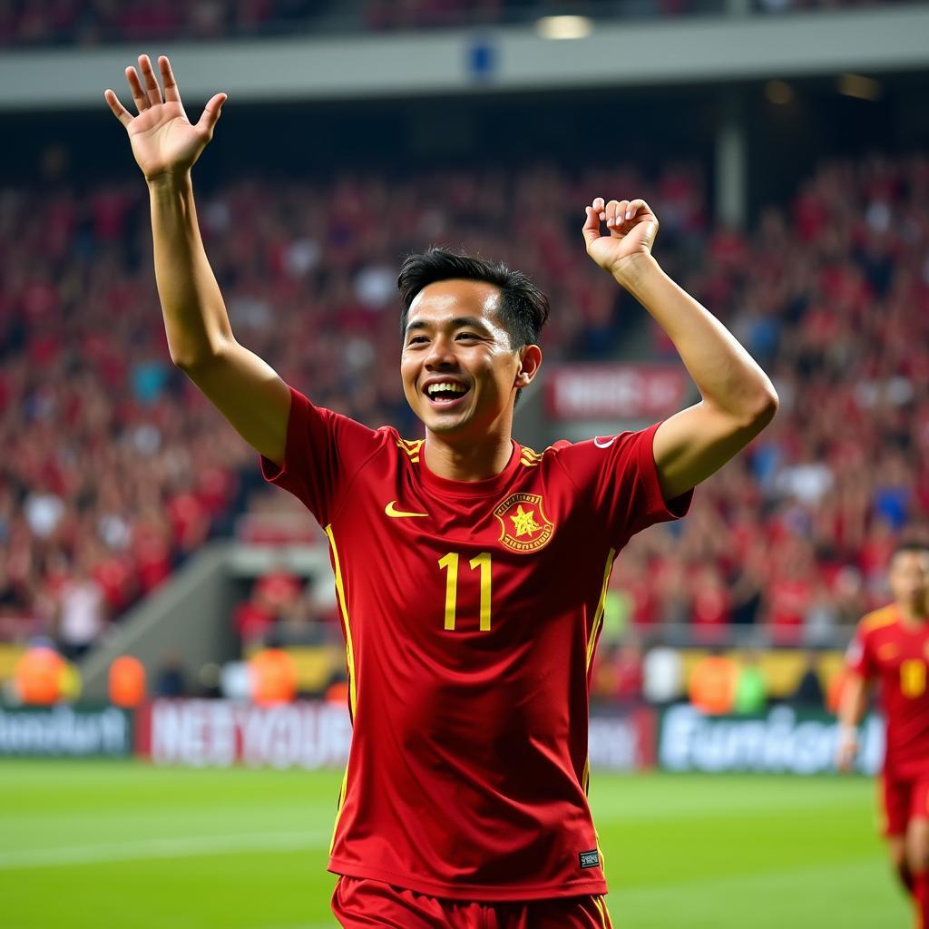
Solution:
{"label": "blurred crowd section right of the arm with the raised fist", "polygon": [[822,165],[752,236],[713,229],[684,286],[771,373],[781,410],[680,530],[634,539],[613,584],[640,627],[828,640],[886,602],[901,534],[929,538],[929,159]]}

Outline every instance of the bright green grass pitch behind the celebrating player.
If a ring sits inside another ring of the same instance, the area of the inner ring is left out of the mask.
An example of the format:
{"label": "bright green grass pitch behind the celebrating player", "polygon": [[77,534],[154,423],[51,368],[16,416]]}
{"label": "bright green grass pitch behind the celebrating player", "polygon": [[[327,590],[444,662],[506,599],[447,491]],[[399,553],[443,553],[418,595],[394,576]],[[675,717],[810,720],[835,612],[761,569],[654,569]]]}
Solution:
{"label": "bright green grass pitch behind the celebrating player", "polygon": [[[0,763],[4,929],[330,929],[340,775]],[[864,779],[595,775],[620,929],[905,929]]]}

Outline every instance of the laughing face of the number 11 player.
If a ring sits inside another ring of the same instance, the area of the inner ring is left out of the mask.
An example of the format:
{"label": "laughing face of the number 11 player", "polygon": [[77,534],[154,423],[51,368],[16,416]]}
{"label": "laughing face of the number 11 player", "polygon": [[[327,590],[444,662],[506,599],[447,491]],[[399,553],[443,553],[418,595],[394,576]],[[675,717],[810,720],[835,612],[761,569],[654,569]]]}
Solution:
{"label": "laughing face of the number 11 player", "polygon": [[[436,281],[416,294],[400,377],[412,411],[432,432],[489,429],[510,404],[520,359],[499,307],[499,288],[483,281]],[[436,384],[451,389],[433,394]]]}

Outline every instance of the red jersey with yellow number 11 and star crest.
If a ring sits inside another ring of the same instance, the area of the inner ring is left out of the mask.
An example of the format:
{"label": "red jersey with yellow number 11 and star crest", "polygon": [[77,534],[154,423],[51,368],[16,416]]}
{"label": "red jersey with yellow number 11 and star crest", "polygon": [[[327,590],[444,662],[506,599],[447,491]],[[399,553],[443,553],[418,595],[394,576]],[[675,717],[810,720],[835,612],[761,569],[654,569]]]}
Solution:
{"label": "red jersey with yellow number 11 and star crest", "polygon": [[587,716],[613,558],[662,499],[657,426],[494,478],[291,389],[282,468],[325,529],[346,638],[351,752],[329,870],[475,901],[605,894]]}

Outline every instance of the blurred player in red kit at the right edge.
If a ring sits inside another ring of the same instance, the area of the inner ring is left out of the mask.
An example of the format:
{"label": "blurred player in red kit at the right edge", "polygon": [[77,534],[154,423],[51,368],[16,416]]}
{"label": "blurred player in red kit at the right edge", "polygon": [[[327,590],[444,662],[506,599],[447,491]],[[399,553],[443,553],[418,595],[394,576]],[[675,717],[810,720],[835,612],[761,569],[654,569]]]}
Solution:
{"label": "blurred player in red kit at the right edge", "polygon": [[848,648],[838,766],[847,771],[855,761],[857,726],[878,682],[887,726],[883,834],[917,925],[929,929],[929,546],[900,545],[888,579],[894,602],[865,616]]}

